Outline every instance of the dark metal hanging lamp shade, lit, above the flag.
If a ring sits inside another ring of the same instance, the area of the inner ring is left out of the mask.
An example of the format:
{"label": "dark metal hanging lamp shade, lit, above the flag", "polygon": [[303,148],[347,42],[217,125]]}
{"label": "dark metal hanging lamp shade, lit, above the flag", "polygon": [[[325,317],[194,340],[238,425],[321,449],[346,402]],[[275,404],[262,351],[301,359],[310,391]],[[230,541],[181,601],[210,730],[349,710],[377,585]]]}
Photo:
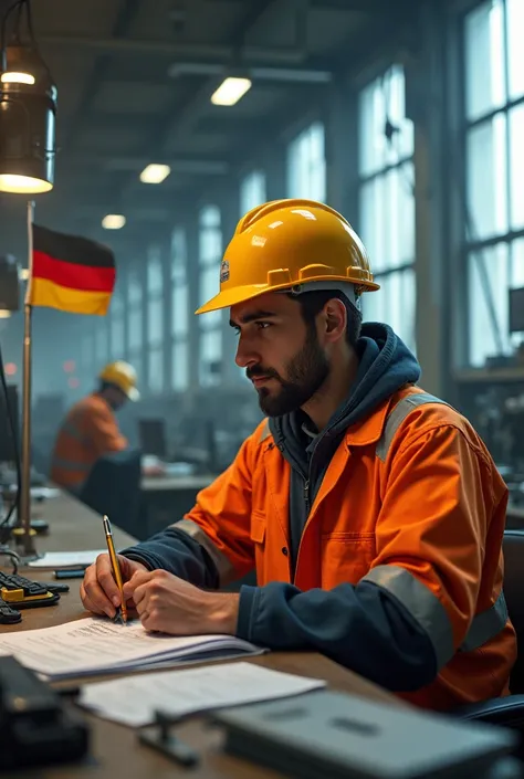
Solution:
{"label": "dark metal hanging lamp shade, lit, above the flag", "polygon": [[56,86],[30,46],[6,49],[0,72],[0,191],[36,194],[54,183]]}

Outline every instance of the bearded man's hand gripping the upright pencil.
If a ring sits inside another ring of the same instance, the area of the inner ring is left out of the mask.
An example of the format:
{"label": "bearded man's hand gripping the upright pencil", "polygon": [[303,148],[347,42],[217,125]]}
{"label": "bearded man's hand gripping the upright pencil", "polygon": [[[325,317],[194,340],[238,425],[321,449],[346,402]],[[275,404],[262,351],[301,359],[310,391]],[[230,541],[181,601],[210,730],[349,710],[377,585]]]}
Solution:
{"label": "bearded man's hand gripping the upright pencil", "polygon": [[[138,571],[147,571],[142,562],[129,560],[122,555],[117,557],[124,582],[129,581],[133,575]],[[107,614],[113,619],[122,599],[120,591],[113,578],[109,555],[98,555],[96,562],[87,568],[80,588],[80,597],[87,611],[95,614]]]}

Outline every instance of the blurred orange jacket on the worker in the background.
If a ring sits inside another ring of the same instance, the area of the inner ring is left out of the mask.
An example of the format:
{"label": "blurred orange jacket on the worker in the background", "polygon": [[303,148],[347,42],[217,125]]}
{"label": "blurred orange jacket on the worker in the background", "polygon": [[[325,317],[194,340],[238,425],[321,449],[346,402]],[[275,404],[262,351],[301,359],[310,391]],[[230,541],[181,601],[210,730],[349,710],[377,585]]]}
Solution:
{"label": "blurred orange jacket on the worker in the background", "polygon": [[111,407],[99,394],[90,394],[70,409],[59,430],[51,480],[77,492],[98,457],[126,446]]}

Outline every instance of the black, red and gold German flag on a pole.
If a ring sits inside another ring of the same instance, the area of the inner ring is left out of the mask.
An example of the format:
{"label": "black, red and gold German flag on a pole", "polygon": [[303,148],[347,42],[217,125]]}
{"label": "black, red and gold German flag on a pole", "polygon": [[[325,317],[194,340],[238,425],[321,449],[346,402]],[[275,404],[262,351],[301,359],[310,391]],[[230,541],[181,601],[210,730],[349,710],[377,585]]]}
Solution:
{"label": "black, red and gold German flag on a pole", "polygon": [[111,249],[33,224],[30,305],[104,316],[115,280],[115,256]]}

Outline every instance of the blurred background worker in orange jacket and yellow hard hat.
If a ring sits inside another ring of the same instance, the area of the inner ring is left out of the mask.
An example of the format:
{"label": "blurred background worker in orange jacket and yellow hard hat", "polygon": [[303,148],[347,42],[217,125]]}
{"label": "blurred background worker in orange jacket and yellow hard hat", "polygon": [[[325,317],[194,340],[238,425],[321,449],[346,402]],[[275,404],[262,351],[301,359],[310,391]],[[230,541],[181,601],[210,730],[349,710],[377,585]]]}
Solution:
{"label": "blurred background worker in orange jacket and yellow hard hat", "polygon": [[75,495],[81,494],[99,457],[127,448],[115,413],[128,400],[139,398],[136,372],[128,362],[111,362],[98,382],[95,392],[70,409],[54,445],[51,480]]}

